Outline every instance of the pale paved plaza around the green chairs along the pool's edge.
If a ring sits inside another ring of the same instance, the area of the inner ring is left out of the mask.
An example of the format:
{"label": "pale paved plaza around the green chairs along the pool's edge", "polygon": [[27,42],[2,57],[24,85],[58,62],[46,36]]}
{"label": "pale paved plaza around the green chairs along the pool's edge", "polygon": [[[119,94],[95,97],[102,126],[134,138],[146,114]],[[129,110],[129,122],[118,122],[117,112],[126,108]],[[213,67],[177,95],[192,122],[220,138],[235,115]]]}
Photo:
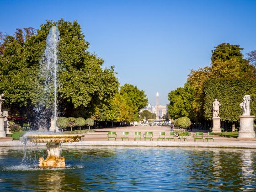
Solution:
{"label": "pale paved plaza around the green chairs along the pool's edge", "polygon": [[[175,129],[178,130],[178,129]],[[116,141],[107,141],[107,132],[115,131],[117,133]],[[143,139],[143,133],[146,131],[153,132],[153,141]],[[170,132],[169,127],[164,126],[129,126],[129,127],[118,127],[118,128],[102,128],[95,129],[95,133],[85,134],[85,138],[80,142],[75,143],[65,143],[63,146],[158,146],[158,147],[221,147],[221,148],[255,148],[256,149],[256,138],[250,139],[236,139],[236,138],[226,138],[218,135],[214,135],[214,141],[200,141],[194,142],[193,134],[200,130],[192,130],[191,136],[187,138],[187,141],[178,141],[178,137],[175,137],[171,141],[157,141],[159,132],[165,132],[168,134]],[[121,137],[123,132],[129,132],[129,140],[122,141]],[[134,141],[134,132],[141,132],[141,141],[137,139]],[[205,134],[207,131],[204,131]],[[22,146],[23,144],[11,138],[0,139],[0,146]],[[39,144],[45,145],[45,144]]]}

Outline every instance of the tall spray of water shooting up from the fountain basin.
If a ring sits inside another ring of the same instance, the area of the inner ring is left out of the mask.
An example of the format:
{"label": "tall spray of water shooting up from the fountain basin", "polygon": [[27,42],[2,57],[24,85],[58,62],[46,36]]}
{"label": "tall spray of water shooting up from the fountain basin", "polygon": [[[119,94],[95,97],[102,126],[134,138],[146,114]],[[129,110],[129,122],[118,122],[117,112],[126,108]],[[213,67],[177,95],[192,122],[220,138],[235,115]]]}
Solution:
{"label": "tall spray of water shooting up from the fountain basin", "polygon": [[50,118],[54,119],[54,132],[56,132],[57,117],[57,71],[58,71],[58,44],[59,30],[56,26],[50,28],[46,39],[46,48],[41,62],[39,77],[39,99],[37,122],[39,130],[46,130]]}

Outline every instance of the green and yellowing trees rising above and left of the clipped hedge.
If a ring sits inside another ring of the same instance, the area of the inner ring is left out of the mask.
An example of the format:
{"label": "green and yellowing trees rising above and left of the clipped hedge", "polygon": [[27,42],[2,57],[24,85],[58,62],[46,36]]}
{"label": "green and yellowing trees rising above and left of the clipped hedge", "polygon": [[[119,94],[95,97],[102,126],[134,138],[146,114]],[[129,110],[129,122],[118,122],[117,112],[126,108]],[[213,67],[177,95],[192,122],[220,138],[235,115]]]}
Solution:
{"label": "green and yellowing trees rising above and left of the clipped hedge", "polygon": [[[190,117],[194,121],[209,120],[209,113],[211,113],[211,110],[209,111],[210,105],[205,103],[205,98],[208,98],[207,94],[210,94],[205,89],[210,89],[213,86],[207,86],[209,81],[218,80],[218,82],[221,82],[227,79],[256,80],[256,69],[249,63],[249,60],[243,59],[243,54],[241,53],[243,48],[240,48],[240,45],[222,43],[214,48],[211,65],[199,68],[198,70],[191,70],[184,88],[177,88],[169,93],[170,104],[168,111],[172,118]],[[233,90],[234,87],[231,88],[229,86],[226,88],[227,90]],[[224,92],[217,91],[216,93],[220,94],[219,97],[222,97]],[[211,99],[214,101],[215,98],[211,97]],[[209,106],[206,107],[205,105]],[[230,115],[230,113],[227,114]],[[237,114],[232,114],[232,117],[224,119],[225,121],[236,121],[237,117],[235,115]]]}

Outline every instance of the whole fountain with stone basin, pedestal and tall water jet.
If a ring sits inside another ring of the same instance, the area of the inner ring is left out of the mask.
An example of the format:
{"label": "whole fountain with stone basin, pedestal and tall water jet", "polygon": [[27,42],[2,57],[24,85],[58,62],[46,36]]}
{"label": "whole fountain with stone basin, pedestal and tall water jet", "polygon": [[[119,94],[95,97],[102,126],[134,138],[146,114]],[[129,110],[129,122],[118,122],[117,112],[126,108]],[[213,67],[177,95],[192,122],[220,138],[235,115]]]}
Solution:
{"label": "whole fountain with stone basin, pedestal and tall water jet", "polygon": [[[42,85],[43,94],[42,101],[40,103],[40,109],[38,109],[39,114],[41,114],[41,119],[39,122],[45,121],[43,117],[51,113],[51,134],[38,134],[38,133],[28,133],[24,136],[25,141],[30,141],[33,143],[46,143],[48,156],[46,159],[39,157],[38,166],[45,168],[55,168],[55,167],[65,167],[65,158],[61,156],[61,144],[65,142],[78,142],[84,137],[83,134],[56,134],[56,117],[57,117],[57,53],[58,53],[58,43],[59,43],[59,30],[56,26],[51,27],[49,34],[47,36],[47,45],[45,49],[45,60],[42,62]],[[54,94],[53,94],[54,92]],[[54,96],[53,96],[54,95]],[[51,102],[53,101],[54,103]],[[54,105],[52,105],[52,103]],[[53,106],[54,110],[51,110]],[[46,123],[45,123],[46,124]],[[46,128],[43,128],[46,129]],[[26,142],[25,142],[26,143]]]}

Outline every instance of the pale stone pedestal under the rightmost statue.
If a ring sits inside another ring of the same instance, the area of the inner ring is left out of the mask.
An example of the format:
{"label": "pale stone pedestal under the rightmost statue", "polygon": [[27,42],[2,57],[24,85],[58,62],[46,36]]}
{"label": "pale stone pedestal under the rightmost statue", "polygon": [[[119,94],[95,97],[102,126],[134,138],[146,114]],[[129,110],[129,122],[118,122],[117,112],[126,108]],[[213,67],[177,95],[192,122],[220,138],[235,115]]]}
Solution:
{"label": "pale stone pedestal under the rightmost statue", "polygon": [[238,138],[255,138],[255,131],[253,130],[253,118],[252,115],[240,115],[240,129],[238,132]]}

